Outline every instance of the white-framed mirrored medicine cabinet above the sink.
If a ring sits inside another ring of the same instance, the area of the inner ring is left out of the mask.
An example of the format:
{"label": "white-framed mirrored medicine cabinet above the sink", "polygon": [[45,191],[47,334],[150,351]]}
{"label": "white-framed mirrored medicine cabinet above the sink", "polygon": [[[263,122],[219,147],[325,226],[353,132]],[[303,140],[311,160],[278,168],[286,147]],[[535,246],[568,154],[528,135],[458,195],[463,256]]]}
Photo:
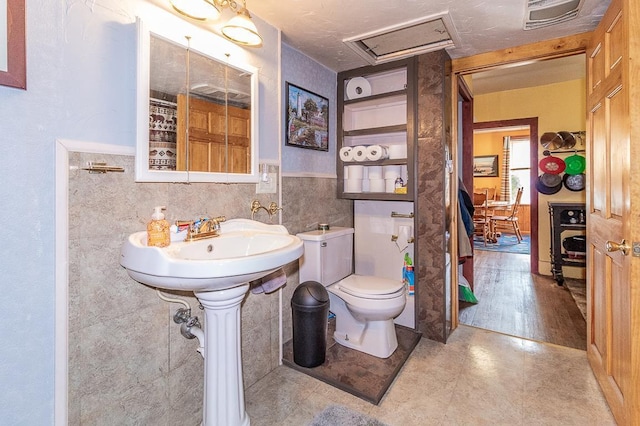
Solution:
{"label": "white-framed mirrored medicine cabinet above the sink", "polygon": [[257,69],[214,35],[137,26],[136,181],[257,182]]}

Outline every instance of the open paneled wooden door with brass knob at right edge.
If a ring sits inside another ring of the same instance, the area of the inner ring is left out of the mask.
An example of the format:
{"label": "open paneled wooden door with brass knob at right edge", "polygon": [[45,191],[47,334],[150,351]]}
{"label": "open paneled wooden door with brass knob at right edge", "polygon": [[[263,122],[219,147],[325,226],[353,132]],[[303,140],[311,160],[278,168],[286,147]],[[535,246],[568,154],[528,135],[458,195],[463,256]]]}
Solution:
{"label": "open paneled wooden door with brass knob at right edge", "polygon": [[640,423],[636,2],[612,0],[587,50],[587,355],[621,425]]}

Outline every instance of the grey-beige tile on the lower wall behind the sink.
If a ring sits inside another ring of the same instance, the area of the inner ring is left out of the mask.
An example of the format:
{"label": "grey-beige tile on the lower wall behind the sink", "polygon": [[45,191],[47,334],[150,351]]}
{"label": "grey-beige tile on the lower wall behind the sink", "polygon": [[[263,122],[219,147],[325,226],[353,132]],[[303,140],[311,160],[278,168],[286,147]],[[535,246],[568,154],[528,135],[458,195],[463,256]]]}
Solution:
{"label": "grey-beige tile on the lower wall behind the sink", "polygon": [[[197,340],[182,337],[172,320],[181,305],[160,300],[127,275],[119,265],[120,247],[127,235],[145,229],[156,205],[167,206],[169,220],[250,218],[253,199],[268,204],[278,201],[277,194],[256,195],[254,184],[135,183],[132,156],[69,154],[70,166],[105,161],[125,168],[107,174],[70,170],[69,424],[199,424],[204,363]],[[289,232],[314,222],[352,225],[352,203],[335,199],[335,185],[335,179],[284,179],[282,217]],[[285,340],[291,338],[297,262],[286,271]],[[203,320],[193,296],[172,296],[188,300]],[[246,387],[279,364],[278,314],[277,293],[248,294],[243,303]]]}

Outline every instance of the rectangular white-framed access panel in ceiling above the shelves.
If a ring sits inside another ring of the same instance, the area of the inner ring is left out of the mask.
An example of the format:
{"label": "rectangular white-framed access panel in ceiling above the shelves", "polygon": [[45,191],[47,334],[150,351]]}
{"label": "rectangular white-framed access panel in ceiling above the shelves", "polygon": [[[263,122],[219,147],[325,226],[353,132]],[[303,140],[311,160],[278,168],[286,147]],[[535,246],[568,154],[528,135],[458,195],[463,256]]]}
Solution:
{"label": "rectangular white-framed access panel in ceiling above the shelves", "polygon": [[459,45],[448,13],[342,40],[372,65]]}

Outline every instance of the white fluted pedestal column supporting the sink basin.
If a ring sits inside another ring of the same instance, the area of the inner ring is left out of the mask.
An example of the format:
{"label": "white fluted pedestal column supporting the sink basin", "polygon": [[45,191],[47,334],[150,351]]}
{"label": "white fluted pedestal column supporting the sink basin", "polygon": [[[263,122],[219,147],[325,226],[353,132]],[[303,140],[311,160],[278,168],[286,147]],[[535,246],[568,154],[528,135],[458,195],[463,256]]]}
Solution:
{"label": "white fluted pedestal column supporting the sink basin", "polygon": [[240,354],[240,304],[249,290],[194,292],[205,312],[203,426],[248,426]]}

